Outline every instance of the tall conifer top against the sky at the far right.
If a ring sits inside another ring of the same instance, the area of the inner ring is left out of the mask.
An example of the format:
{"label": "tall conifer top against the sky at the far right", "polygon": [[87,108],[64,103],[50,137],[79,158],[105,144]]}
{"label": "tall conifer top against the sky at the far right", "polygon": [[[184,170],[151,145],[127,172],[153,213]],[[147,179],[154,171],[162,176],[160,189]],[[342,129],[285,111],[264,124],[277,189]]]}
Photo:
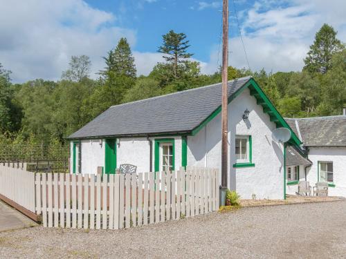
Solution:
{"label": "tall conifer top against the sky at the far right", "polygon": [[331,68],[331,57],[345,46],[336,39],[336,30],[327,23],[316,32],[315,41],[304,59],[304,70],[310,73],[327,73]]}

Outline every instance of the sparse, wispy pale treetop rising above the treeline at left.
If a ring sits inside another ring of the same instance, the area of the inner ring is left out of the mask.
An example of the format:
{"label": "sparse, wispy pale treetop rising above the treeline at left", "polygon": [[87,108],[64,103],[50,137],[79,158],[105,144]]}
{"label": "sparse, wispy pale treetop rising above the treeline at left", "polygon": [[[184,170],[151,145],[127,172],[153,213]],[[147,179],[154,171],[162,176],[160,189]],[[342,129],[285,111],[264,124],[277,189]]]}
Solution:
{"label": "sparse, wispy pale treetop rising above the treeline at left", "polygon": [[88,56],[72,56],[69,63],[69,69],[62,72],[62,79],[80,82],[84,78],[89,77],[90,68],[91,61]]}

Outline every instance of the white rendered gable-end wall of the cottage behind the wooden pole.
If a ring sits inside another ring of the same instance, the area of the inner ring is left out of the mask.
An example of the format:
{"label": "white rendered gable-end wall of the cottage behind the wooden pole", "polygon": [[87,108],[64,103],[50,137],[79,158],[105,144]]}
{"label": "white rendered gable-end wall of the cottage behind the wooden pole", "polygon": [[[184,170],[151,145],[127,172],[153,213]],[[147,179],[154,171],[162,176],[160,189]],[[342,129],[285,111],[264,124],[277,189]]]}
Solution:
{"label": "white rendered gable-end wall of the cottage behind the wooden pole", "polygon": [[[244,122],[244,111],[250,111]],[[271,140],[275,124],[256,104],[249,90],[228,105],[228,187],[242,198],[284,198],[283,147]],[[235,135],[251,135],[254,167],[233,168],[235,164]],[[221,114],[195,136],[188,137],[188,165],[210,166],[221,172]]]}

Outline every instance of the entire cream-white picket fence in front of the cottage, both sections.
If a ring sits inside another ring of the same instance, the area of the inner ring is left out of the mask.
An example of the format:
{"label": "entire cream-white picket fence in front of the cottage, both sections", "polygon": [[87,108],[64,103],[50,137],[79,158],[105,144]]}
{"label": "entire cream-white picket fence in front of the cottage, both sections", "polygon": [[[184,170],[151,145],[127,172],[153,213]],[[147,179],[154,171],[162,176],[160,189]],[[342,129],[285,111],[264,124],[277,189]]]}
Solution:
{"label": "entire cream-white picket fence in front of the cottage, both sections", "polygon": [[219,209],[219,171],[116,175],[31,173],[0,166],[0,194],[42,215],[44,227],[122,229]]}

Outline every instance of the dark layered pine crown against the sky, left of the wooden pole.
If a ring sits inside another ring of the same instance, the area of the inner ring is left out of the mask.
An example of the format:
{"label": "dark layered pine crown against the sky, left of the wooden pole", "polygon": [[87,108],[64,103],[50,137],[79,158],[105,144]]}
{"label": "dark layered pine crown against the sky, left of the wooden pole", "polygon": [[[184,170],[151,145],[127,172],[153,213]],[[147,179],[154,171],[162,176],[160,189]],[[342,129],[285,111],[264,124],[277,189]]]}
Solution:
{"label": "dark layered pine crown against the sky, left of the wooden pole", "polygon": [[170,30],[167,34],[163,35],[163,45],[158,48],[158,52],[163,53],[163,58],[170,64],[175,78],[179,77],[179,66],[183,66],[186,59],[192,57],[193,54],[188,53],[187,49],[190,47],[189,41],[186,40],[185,33],[176,33]]}

